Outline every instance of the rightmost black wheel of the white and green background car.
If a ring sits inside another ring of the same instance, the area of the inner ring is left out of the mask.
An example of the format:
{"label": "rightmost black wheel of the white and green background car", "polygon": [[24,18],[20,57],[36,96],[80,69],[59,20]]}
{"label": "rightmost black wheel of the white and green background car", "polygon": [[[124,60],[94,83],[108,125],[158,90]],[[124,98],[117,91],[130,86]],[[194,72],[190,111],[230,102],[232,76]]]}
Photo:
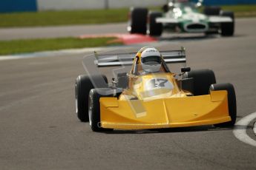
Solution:
{"label": "rightmost black wheel of the white and green background car", "polygon": [[234,13],[229,11],[221,11],[221,16],[229,16],[232,18],[232,22],[223,22],[220,24],[220,30],[222,36],[234,35]]}

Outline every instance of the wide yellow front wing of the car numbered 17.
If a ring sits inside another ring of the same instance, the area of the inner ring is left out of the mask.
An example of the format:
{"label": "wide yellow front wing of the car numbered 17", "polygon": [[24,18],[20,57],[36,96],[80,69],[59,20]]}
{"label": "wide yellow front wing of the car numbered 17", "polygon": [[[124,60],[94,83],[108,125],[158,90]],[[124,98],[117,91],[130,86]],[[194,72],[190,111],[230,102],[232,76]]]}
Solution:
{"label": "wide yellow front wing of the car numbered 17", "polygon": [[161,129],[224,123],[229,117],[227,92],[154,101],[100,98],[102,128]]}

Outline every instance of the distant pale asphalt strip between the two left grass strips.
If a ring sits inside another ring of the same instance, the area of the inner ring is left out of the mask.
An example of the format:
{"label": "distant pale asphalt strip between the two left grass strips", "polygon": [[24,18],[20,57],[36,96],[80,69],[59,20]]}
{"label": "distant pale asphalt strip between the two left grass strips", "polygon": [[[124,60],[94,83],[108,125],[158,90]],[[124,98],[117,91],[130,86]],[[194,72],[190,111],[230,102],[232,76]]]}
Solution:
{"label": "distant pale asphalt strip between the two left grass strips", "polygon": [[126,23],[58,27],[0,28],[0,40],[61,38],[101,33],[127,33]]}

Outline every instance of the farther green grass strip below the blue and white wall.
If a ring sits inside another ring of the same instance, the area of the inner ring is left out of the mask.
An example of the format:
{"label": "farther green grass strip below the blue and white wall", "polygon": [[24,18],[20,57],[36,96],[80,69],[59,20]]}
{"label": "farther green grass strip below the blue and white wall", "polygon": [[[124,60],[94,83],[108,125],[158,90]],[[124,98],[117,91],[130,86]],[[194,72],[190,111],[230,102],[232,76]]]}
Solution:
{"label": "farther green grass strip below the blue and white wall", "polygon": [[[160,9],[151,7],[150,9]],[[223,6],[237,17],[256,16],[256,5]],[[104,24],[128,20],[128,8],[111,10],[65,10],[0,14],[0,27],[39,27],[73,24]]]}

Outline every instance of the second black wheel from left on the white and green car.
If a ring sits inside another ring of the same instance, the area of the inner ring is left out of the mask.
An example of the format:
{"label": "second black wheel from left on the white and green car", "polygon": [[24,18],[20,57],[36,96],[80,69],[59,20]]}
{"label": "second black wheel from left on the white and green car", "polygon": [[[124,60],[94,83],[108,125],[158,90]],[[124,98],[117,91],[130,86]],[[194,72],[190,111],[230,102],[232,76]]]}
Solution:
{"label": "second black wheel from left on the white and green car", "polygon": [[151,36],[162,35],[163,24],[156,22],[156,19],[162,16],[163,16],[163,13],[160,13],[160,12],[149,13],[149,35]]}

